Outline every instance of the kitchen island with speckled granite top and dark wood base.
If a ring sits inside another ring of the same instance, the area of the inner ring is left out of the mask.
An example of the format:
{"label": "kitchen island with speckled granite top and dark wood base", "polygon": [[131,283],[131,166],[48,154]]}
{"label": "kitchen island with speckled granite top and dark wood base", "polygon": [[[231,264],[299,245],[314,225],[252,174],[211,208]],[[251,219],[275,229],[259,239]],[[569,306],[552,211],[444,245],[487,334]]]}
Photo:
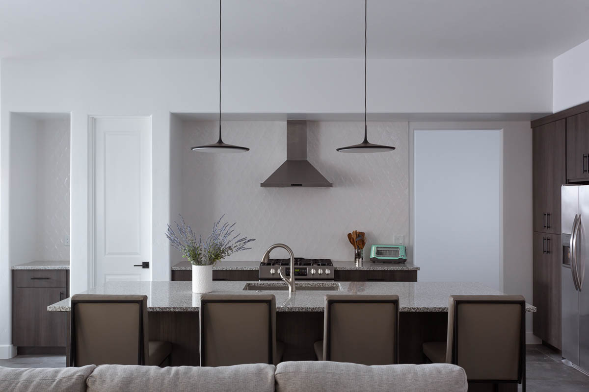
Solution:
{"label": "kitchen island with speckled granite top and dark wood base", "polygon": [[[308,285],[325,290],[305,290]],[[423,363],[422,343],[446,339],[449,296],[502,294],[480,283],[299,282],[290,296],[285,287],[282,282],[213,282],[212,294],[274,294],[276,338],[285,344],[283,360],[315,359],[313,343],[323,339],[325,294],[397,294],[401,363]],[[200,294],[192,293],[190,282],[110,282],[84,294],[146,295],[150,340],[173,343],[174,365],[198,366]],[[47,309],[68,312],[70,299]],[[527,304],[526,311],[535,307]],[[370,326],[359,321],[358,333],[370,333]]]}

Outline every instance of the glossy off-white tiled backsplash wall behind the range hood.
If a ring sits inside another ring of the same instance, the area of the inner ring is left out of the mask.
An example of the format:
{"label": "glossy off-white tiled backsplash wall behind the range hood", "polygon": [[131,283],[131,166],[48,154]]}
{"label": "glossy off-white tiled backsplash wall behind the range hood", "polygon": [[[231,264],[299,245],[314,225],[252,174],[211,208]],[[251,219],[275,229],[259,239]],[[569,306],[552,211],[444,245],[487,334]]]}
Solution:
{"label": "glossy off-white tiled backsplash wall behind the range hood", "polygon": [[[370,122],[373,143],[396,146],[391,153],[342,154],[336,148],[362,141],[363,123],[307,122],[307,158],[332,188],[263,188],[286,159],[286,122],[223,122],[223,140],[248,153],[194,153],[190,146],[216,141],[218,122],[184,123],[181,209],[194,232],[206,237],[223,214],[236,232],[256,241],[228,260],[259,260],[273,243],[295,256],[353,260],[346,234],[366,232],[366,249],[409,232],[408,123]],[[275,250],[272,257],[287,257]],[[173,260],[179,261],[176,252]]]}

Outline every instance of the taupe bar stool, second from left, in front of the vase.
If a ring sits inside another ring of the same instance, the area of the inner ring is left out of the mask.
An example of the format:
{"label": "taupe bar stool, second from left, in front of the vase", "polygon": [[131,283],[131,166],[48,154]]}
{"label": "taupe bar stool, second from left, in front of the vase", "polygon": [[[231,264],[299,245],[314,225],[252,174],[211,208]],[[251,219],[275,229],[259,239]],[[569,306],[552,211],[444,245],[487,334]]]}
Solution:
{"label": "taupe bar stool, second from left, in front of the vase", "polygon": [[203,294],[200,300],[200,366],[278,364],[276,297]]}

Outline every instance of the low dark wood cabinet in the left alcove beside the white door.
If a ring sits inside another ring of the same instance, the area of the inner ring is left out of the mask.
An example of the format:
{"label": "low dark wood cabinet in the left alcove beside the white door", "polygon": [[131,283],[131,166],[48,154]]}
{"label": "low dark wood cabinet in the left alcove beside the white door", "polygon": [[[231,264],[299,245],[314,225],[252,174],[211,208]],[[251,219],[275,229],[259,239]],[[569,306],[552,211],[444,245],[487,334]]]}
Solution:
{"label": "low dark wood cabinet in the left alcove beside the white door", "polygon": [[12,271],[12,344],[21,354],[65,350],[67,314],[47,306],[69,296],[67,270]]}

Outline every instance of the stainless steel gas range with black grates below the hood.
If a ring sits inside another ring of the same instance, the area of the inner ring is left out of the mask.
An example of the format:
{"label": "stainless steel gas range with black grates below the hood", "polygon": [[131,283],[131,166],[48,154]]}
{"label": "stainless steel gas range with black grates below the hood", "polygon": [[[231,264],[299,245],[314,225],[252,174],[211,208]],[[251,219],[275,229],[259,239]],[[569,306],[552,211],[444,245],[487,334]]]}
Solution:
{"label": "stainless steel gas range with black grates below the hood", "polygon": [[[290,276],[290,259],[269,259],[260,263],[260,280],[280,280],[278,270]],[[294,257],[294,280],[333,280],[333,263],[330,259]]]}

